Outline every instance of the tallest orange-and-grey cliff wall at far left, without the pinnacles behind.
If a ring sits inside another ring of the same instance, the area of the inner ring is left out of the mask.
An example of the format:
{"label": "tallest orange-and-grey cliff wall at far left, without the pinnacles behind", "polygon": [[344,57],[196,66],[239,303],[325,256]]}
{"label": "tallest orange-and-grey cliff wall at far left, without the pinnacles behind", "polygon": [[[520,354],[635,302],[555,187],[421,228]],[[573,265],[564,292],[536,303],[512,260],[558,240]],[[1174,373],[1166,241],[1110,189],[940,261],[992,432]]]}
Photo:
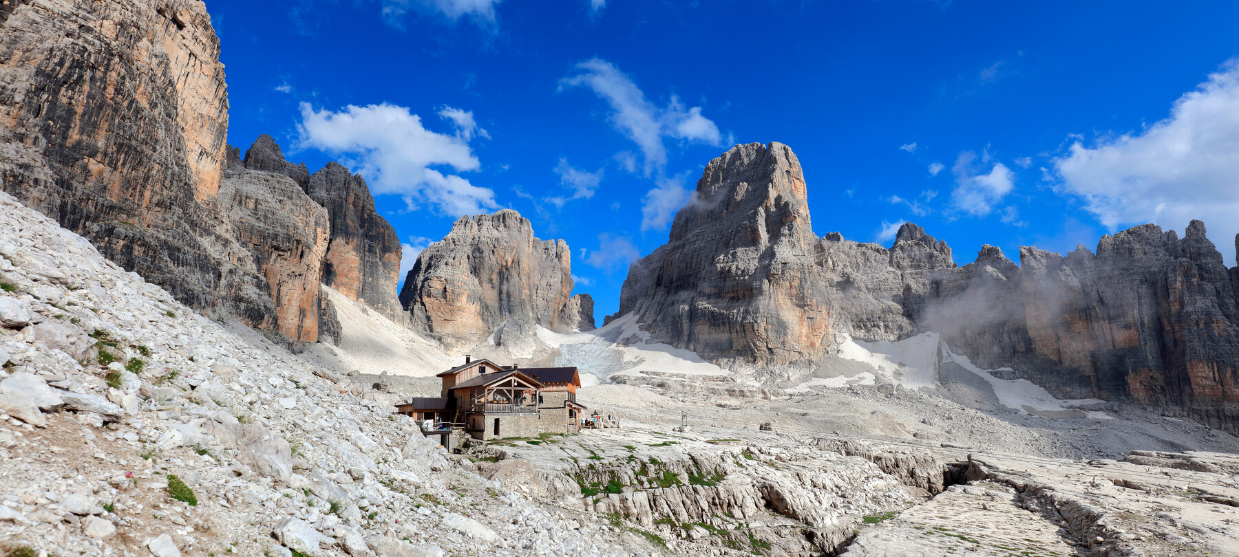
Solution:
{"label": "tallest orange-and-grey cliff wall at far left, without the pinnacles behind", "polygon": [[[223,222],[228,100],[198,1],[10,2],[0,187],[199,309],[261,306]],[[11,11],[10,11],[11,10]]]}

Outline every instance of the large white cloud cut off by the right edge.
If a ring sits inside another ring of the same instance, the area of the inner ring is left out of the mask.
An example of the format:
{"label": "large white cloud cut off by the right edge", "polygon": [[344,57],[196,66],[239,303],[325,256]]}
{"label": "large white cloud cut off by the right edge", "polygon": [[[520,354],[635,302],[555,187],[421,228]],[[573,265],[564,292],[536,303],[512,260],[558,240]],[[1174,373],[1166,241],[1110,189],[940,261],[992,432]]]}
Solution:
{"label": "large white cloud cut off by the right edge", "polygon": [[1061,189],[1111,231],[1155,223],[1182,230],[1201,219],[1228,261],[1239,233],[1239,61],[1178,98],[1140,132],[1075,141],[1053,161]]}

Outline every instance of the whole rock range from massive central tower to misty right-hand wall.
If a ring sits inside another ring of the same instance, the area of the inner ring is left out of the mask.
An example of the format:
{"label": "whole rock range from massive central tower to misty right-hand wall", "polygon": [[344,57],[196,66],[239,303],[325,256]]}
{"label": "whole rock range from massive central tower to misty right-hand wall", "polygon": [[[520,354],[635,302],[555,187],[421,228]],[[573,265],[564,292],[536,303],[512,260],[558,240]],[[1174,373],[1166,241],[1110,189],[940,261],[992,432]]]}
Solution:
{"label": "whole rock range from massive central tower to misty right-hand wall", "polygon": [[1020,260],[986,245],[957,266],[914,224],[890,250],[819,239],[790,150],[741,145],[706,167],[668,244],[632,265],[620,313],[636,312],[657,342],[757,365],[817,360],[835,332],[935,330],[955,353],[1062,397],[1239,428],[1239,269],[1202,223],[1182,239],[1142,225],[1101,238],[1097,255],[1023,248]]}

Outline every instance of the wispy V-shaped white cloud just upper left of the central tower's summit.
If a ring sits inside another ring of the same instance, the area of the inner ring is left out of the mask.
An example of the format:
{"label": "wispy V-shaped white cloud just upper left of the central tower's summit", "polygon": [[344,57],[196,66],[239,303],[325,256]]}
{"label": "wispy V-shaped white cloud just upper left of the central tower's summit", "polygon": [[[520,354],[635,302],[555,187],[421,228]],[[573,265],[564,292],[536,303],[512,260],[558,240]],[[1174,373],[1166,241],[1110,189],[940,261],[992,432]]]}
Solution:
{"label": "wispy V-shaped white cloud just upper left of the central tower's summit", "polygon": [[679,98],[672,95],[667,108],[659,109],[646,99],[632,78],[601,58],[581,62],[576,69],[579,73],[561,79],[560,87],[587,87],[611,105],[611,124],[637,144],[647,175],[667,166],[664,137],[722,145],[719,126],[701,115],[700,106],[685,110]]}

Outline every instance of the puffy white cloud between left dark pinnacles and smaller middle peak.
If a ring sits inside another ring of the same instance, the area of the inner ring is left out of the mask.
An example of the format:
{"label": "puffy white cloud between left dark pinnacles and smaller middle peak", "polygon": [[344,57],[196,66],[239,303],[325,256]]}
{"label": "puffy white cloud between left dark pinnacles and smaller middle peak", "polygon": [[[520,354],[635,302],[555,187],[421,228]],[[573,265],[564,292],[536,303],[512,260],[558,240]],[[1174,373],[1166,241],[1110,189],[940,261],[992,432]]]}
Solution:
{"label": "puffy white cloud between left dark pinnacles and smaller middle peak", "polygon": [[333,113],[302,103],[297,130],[302,146],[349,157],[346,162],[366,177],[375,196],[403,196],[410,210],[429,205],[457,217],[498,208],[489,188],[431,168],[478,170],[465,136],[426,130],[421,118],[404,106],[348,105]]}

